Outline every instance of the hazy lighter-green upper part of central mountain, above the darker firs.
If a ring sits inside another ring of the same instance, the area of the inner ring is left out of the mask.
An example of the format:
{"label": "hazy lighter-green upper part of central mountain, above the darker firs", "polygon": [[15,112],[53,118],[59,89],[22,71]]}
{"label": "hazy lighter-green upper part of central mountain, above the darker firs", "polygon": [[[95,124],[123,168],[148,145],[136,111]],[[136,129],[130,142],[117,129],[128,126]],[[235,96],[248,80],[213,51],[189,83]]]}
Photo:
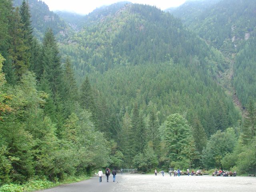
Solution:
{"label": "hazy lighter-green upper part of central mountain, above the darker firs", "polygon": [[[214,50],[168,13],[142,5],[127,5],[116,14],[102,18],[60,45],[63,54],[75,55],[78,76],[92,70],[100,73],[116,66],[164,62],[174,63],[198,56],[209,76],[225,66]],[[218,61],[218,62],[217,62]]]}

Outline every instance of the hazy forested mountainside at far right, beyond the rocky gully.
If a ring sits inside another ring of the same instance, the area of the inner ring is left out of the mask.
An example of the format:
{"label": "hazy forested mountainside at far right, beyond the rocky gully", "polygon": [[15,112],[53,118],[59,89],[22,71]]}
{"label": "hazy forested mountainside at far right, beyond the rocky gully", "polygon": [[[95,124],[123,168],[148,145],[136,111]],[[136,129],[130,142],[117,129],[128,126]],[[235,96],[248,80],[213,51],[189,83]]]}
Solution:
{"label": "hazy forested mountainside at far right, beyond the rocky gully", "polygon": [[[232,82],[236,96],[245,107],[249,97],[255,98],[256,95],[253,75],[256,73],[254,58],[256,52],[253,48],[256,33],[255,2],[222,0],[202,12],[198,12],[195,5],[192,14],[195,15],[196,20],[191,20],[189,15],[185,14],[193,8],[184,6],[182,8],[170,12],[176,16],[183,14],[184,23],[191,30],[234,61],[234,65],[233,62],[230,64]],[[239,54],[235,56],[236,53]]]}

